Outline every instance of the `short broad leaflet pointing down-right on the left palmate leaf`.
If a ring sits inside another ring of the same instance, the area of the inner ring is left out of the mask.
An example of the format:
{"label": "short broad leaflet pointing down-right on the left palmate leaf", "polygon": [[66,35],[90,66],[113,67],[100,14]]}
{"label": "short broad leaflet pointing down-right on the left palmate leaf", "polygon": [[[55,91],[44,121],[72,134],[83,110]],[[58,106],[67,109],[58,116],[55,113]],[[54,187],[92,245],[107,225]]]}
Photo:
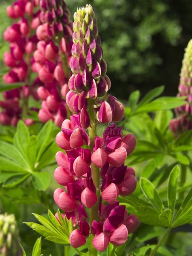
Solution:
{"label": "short broad leaflet pointing down-right on the left palmate leaf", "polygon": [[33,185],[35,186],[35,188],[37,188],[38,190],[45,191],[49,187],[50,176],[48,173],[34,172],[34,173],[32,173],[32,175],[33,175],[32,182],[33,182]]}

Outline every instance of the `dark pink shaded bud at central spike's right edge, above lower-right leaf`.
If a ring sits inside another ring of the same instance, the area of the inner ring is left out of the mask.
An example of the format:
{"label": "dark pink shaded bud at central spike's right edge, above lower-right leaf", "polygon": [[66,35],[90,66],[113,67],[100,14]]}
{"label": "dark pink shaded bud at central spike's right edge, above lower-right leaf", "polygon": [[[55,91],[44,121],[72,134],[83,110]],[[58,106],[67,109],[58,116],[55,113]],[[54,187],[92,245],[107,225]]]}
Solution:
{"label": "dark pink shaded bud at central spike's right edge, above lower-right leaf", "polygon": [[118,184],[119,194],[122,196],[129,196],[137,187],[137,180],[133,175],[128,175],[122,182]]}

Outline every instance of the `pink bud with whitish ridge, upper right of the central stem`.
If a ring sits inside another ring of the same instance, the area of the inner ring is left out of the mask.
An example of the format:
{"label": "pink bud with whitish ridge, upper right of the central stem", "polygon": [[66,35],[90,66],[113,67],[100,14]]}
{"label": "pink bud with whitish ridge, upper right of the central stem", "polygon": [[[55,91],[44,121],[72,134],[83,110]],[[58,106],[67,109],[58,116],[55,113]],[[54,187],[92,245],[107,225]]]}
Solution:
{"label": "pink bud with whitish ridge, upper right of the central stem", "polygon": [[112,110],[107,101],[102,102],[99,112],[98,112],[98,120],[101,123],[107,124],[112,121]]}

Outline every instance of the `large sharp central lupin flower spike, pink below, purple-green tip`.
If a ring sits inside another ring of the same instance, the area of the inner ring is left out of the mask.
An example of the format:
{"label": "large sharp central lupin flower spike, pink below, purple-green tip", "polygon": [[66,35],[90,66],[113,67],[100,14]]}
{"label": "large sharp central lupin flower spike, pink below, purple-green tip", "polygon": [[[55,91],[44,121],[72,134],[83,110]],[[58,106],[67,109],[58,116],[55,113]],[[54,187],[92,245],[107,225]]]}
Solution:
{"label": "large sharp central lupin flower spike, pink below, purple-green tip", "polygon": [[[117,98],[107,96],[111,83],[92,6],[77,9],[74,20],[73,75],[66,95],[73,114],[64,120],[56,136],[66,154],[56,154],[59,166],[54,173],[65,188],[55,190],[54,200],[64,211],[62,216],[73,220],[70,245],[80,247],[89,237],[89,253],[97,255],[109,243],[124,244],[139,224],[117,201],[119,195],[128,196],[136,188],[134,170],[124,165],[136,140],[132,134],[123,138],[122,127],[111,123],[124,117],[124,107]],[[98,123],[110,123],[102,137],[97,136]],[[85,209],[90,209],[89,218]]]}

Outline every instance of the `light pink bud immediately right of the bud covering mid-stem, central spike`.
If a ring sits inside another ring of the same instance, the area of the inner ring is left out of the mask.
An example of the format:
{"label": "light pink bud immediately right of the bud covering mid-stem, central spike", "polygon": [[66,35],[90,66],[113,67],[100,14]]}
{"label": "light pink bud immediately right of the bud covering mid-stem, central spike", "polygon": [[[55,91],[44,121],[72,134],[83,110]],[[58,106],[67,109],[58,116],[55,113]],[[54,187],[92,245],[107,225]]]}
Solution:
{"label": "light pink bud immediately right of the bud covering mid-stem, central spike", "polygon": [[114,152],[108,155],[107,162],[109,162],[109,164],[115,167],[119,167],[125,162],[126,158],[127,158],[126,149],[124,147],[119,147],[115,149]]}

